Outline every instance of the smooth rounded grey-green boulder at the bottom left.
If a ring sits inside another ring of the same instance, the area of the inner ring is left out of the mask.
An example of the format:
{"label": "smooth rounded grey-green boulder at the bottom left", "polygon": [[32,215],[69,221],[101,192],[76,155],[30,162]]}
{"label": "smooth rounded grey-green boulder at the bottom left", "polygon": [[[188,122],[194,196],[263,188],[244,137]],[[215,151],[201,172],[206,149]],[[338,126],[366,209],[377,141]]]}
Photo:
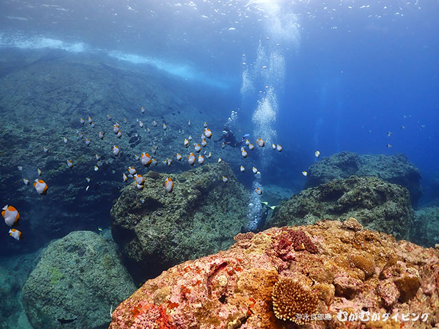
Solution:
{"label": "smooth rounded grey-green boulder at the bottom left", "polygon": [[135,290],[117,246],[89,231],[71,232],[49,244],[27,279],[21,301],[34,328],[106,328],[110,308]]}

